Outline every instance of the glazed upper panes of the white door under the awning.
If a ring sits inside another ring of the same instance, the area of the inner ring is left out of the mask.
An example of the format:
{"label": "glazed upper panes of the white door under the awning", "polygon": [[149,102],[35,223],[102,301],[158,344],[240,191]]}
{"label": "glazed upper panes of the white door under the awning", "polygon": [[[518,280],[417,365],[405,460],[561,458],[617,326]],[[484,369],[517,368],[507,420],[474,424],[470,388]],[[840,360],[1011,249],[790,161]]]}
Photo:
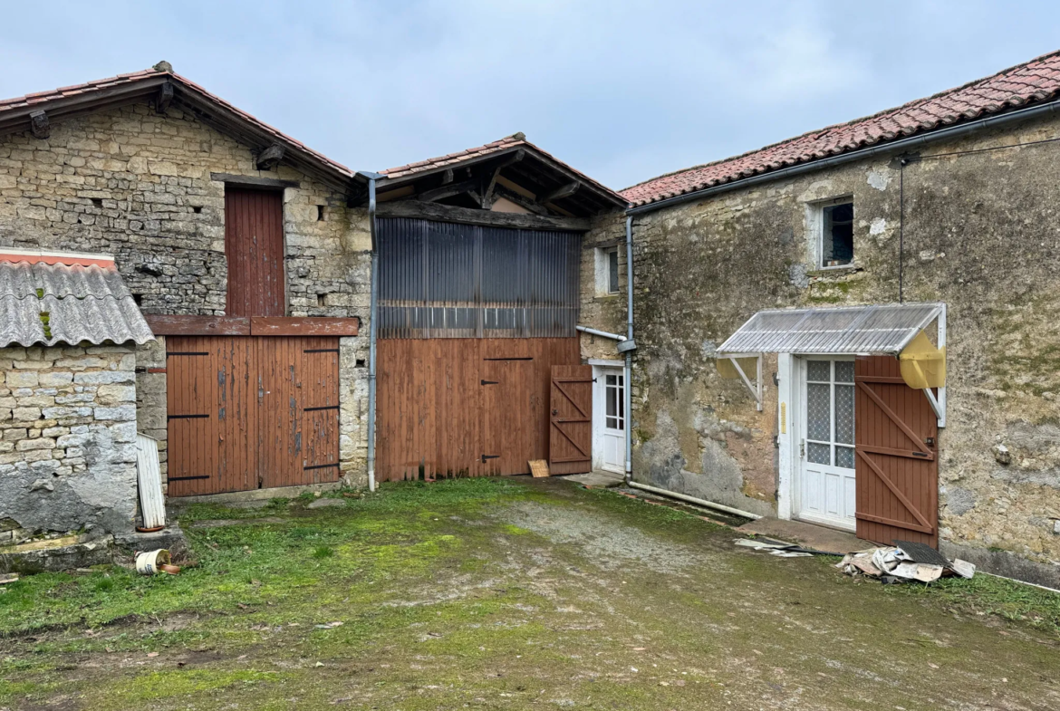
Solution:
{"label": "glazed upper panes of the white door under the awning", "polygon": [[806,363],[806,458],[854,468],[854,361]]}

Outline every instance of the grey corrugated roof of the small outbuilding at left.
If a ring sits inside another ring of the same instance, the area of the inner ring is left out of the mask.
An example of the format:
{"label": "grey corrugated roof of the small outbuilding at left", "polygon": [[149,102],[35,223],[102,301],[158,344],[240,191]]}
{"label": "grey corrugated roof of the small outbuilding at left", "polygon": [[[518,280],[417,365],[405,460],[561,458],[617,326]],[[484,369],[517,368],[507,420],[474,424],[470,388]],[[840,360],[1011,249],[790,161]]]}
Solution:
{"label": "grey corrugated roof of the small outbuilding at left", "polygon": [[0,262],[0,348],[154,338],[114,268]]}

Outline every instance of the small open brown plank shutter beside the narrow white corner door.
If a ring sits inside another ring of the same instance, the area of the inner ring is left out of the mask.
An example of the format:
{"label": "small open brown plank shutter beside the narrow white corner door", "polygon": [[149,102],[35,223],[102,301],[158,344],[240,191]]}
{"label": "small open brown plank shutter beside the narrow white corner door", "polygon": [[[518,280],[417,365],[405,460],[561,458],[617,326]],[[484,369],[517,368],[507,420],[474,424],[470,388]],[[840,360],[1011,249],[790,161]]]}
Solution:
{"label": "small open brown plank shutter beside the narrow white corner door", "polygon": [[551,474],[593,469],[591,366],[552,366],[548,468]]}

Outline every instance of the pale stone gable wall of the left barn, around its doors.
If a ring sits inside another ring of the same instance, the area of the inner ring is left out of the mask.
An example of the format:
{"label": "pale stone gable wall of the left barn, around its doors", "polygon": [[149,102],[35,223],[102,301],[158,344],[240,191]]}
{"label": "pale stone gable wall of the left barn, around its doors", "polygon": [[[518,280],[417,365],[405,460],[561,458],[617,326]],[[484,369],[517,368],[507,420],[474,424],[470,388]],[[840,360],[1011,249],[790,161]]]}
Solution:
{"label": "pale stone gable wall of the left barn, around its doors", "polygon": [[[258,171],[251,149],[171,107],[146,103],[53,122],[48,139],[0,136],[0,247],[113,254],[145,314],[223,315],[225,184],[211,174],[297,181],[284,190],[289,316],[359,317],[341,345],[342,470],[364,478],[369,269],[365,210],[287,166]],[[144,431],[165,457],[164,345],[138,375]]]}

